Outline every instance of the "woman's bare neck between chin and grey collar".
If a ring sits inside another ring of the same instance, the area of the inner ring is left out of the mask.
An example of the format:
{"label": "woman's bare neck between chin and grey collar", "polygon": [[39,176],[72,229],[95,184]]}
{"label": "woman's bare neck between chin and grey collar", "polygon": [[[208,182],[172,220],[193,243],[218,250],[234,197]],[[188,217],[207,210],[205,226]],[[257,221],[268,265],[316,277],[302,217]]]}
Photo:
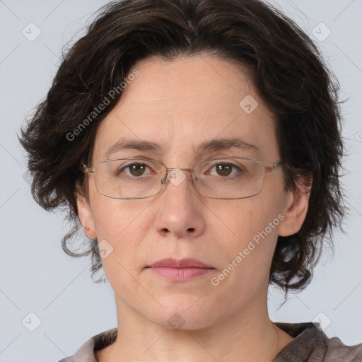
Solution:
{"label": "woman's bare neck between chin and grey collar", "polygon": [[191,330],[157,325],[116,298],[117,341],[98,352],[98,361],[273,361],[293,337],[271,322],[267,298],[262,305],[256,300],[241,308],[238,315]]}

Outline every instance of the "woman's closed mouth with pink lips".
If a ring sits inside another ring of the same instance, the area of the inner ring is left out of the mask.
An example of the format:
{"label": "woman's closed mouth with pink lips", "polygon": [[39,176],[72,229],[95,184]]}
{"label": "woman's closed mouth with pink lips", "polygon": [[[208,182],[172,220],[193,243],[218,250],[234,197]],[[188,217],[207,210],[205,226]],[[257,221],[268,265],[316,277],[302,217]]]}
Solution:
{"label": "woman's closed mouth with pink lips", "polygon": [[200,276],[206,276],[215,268],[197,259],[162,259],[148,267],[153,274],[170,281],[188,281]]}

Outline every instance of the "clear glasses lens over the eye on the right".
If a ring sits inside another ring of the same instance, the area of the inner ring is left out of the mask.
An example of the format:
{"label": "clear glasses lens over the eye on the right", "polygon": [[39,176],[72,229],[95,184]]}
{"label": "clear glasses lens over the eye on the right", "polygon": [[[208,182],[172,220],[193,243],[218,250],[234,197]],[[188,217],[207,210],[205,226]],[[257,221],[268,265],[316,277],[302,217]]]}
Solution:
{"label": "clear glasses lens over the eye on the right", "polygon": [[245,158],[204,160],[194,167],[199,194],[215,199],[242,199],[262,190],[264,164]]}

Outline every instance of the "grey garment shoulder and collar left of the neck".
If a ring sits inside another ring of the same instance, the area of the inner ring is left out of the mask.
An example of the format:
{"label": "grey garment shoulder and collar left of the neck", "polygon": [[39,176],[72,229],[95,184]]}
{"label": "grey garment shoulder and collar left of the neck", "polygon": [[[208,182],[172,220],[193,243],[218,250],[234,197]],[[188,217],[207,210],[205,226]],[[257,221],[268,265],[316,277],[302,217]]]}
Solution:
{"label": "grey garment shoulder and collar left of the neck", "polygon": [[97,362],[95,351],[103,349],[117,339],[117,328],[96,334],[86,341],[73,356],[61,359],[59,362]]}

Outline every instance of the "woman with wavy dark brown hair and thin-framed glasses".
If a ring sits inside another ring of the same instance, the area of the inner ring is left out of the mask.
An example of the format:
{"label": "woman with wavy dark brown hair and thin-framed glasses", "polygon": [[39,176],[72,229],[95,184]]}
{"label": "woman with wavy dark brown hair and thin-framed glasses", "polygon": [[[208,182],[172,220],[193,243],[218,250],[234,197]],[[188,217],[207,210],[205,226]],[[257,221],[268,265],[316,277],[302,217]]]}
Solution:
{"label": "woman with wavy dark brown hair and thin-framed glasses", "polygon": [[340,119],[313,42],[260,1],[105,6],[21,139],[64,250],[81,226],[115,291],[118,327],[62,361],[360,361],[267,311],[344,216]]}

